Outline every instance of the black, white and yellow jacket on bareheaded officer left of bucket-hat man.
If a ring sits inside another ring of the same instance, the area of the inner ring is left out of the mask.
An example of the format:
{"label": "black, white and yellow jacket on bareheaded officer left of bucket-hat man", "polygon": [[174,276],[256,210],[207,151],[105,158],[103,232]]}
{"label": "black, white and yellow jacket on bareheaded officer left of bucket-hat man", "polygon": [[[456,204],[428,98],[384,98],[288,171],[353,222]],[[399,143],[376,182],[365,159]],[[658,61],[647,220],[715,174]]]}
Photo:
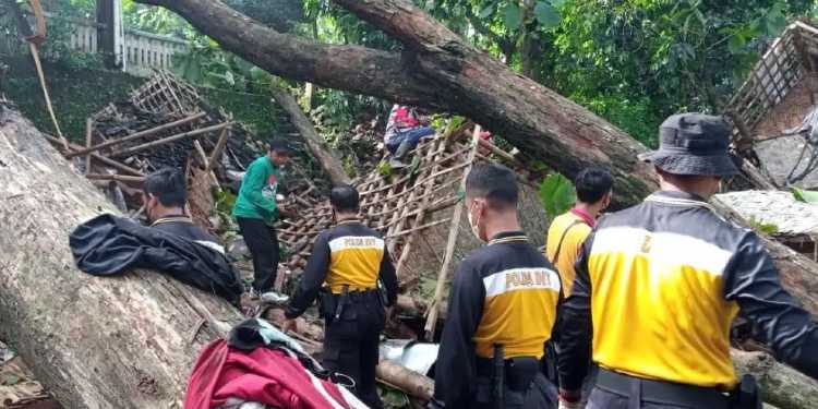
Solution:
{"label": "black, white and yellow jacket on bareheaded officer left of bucket-hat man", "polygon": [[554,267],[521,231],[497,234],[471,252],[455,272],[446,325],[435,364],[435,400],[467,408],[477,360],[501,344],[505,358],[544,354],[561,298]]}

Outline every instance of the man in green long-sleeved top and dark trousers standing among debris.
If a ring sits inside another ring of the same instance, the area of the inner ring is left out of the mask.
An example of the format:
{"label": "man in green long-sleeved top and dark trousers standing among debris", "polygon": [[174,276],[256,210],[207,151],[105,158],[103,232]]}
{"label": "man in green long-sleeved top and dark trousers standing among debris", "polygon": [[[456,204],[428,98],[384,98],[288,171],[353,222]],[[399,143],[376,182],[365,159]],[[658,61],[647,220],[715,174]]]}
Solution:
{"label": "man in green long-sleeved top and dark trousers standing among debris", "polygon": [[290,148],[281,141],[269,144],[267,155],[253,160],[241,181],[233,205],[233,217],[253,256],[253,294],[270,291],[278,272],[278,238],[273,222],[279,214],[288,215],[276,203],[281,182],[279,169],[290,160]]}

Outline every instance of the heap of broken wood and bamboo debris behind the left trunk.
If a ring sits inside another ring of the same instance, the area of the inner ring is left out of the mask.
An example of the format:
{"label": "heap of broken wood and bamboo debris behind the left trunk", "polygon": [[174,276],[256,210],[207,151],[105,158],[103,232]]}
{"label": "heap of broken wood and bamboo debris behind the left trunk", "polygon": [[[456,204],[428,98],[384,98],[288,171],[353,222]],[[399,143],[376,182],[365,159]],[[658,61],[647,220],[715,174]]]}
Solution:
{"label": "heap of broken wood and bamboo debris behind the left trunk", "polygon": [[234,185],[264,152],[264,144],[231,115],[210,107],[196,88],[167,72],[157,72],[128,100],[91,116],[83,146],[72,144],[65,152],[58,140],[51,142],[132,216],[142,213],[145,175],[164,167],[184,169],[190,213],[210,229],[212,189]]}

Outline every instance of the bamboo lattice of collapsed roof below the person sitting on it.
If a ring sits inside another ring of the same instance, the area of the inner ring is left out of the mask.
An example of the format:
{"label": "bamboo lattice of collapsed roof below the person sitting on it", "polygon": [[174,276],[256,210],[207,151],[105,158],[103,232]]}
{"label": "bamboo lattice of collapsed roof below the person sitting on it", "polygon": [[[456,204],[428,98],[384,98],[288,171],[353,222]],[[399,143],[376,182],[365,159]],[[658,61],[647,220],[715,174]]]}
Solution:
{"label": "bamboo lattice of collapsed roof below the person sitting on it", "polygon": [[[494,156],[508,165],[519,165],[510,154],[491,142],[478,141],[473,145],[468,137],[462,141],[442,136],[423,140],[411,153],[409,170],[388,176],[373,171],[354,183],[360,193],[359,216],[386,238],[398,277],[406,269],[407,256],[419,234],[431,227],[453,224],[452,219],[435,218],[435,215],[460,201],[459,185],[471,160],[491,161]],[[478,152],[471,155],[473,149]],[[332,226],[329,204],[315,197],[310,197],[309,203],[311,207],[299,210],[297,219],[284,220],[277,226],[279,241],[289,250],[284,262],[288,267],[285,274],[304,268],[316,236]],[[303,204],[296,206],[304,208]],[[279,280],[279,288],[286,279]]]}

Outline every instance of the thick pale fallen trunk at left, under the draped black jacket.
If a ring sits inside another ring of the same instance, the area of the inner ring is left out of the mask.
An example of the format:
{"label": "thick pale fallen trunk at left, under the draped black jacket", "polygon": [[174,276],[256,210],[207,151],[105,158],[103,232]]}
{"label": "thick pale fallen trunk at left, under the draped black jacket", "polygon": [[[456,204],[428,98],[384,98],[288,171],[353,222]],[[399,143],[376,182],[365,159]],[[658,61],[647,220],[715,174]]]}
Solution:
{"label": "thick pale fallen trunk at left, under the draped black jacket", "polygon": [[240,313],[158,273],[80,272],[68,236],[100,212],[117,213],[0,103],[0,338],[67,408],[181,407],[199,350]]}

